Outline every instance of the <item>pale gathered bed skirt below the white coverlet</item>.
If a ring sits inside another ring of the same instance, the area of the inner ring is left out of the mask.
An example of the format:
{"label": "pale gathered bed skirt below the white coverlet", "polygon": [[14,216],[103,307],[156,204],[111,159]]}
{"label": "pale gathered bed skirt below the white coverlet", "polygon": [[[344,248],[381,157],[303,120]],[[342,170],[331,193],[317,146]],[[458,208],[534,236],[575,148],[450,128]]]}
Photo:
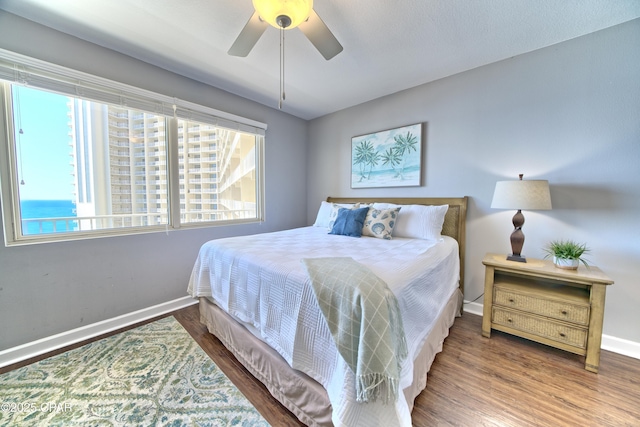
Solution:
{"label": "pale gathered bed skirt below the white coverlet", "polygon": [[[404,389],[410,409],[427,384],[427,372],[455,317],[461,313],[462,294],[453,293],[414,360],[413,383]],[[292,369],[271,347],[256,338],[207,298],[200,298],[200,321],[262,382],[269,392],[308,426],[333,426],[325,389],[308,375]]]}

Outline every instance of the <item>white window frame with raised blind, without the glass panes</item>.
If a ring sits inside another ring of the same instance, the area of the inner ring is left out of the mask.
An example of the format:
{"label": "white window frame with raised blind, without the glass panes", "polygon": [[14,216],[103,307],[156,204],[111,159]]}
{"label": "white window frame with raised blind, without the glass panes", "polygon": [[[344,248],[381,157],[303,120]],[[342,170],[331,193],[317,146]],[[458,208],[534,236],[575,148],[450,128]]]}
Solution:
{"label": "white window frame with raised blind, without the glass panes", "polygon": [[[265,123],[50,64],[3,49],[0,49],[0,80],[11,84],[48,90],[61,95],[79,97],[106,104],[126,105],[131,109],[159,114],[167,117],[167,133],[169,134],[167,145],[167,175],[169,177],[167,183],[168,225],[23,235],[21,232],[17,191],[19,184],[16,173],[15,144],[13,141],[15,135],[13,117],[11,112],[6,110],[6,106],[11,105],[11,94],[9,90],[2,88],[1,92],[4,96],[0,99],[0,203],[2,204],[6,246],[264,221],[264,135],[267,129]],[[8,84],[2,82],[0,84],[8,87]],[[178,119],[207,123],[256,135],[256,218],[180,222]]]}

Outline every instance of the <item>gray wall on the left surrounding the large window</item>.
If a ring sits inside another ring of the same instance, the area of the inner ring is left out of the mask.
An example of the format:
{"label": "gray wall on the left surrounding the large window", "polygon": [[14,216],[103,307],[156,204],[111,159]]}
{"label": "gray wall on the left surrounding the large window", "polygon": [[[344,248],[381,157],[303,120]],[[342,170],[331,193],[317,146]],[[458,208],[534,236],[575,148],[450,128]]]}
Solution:
{"label": "gray wall on the left surrounding the large window", "polygon": [[0,350],[185,296],[207,240],[306,224],[306,121],[2,11],[0,48],[268,125],[263,224],[0,244]]}

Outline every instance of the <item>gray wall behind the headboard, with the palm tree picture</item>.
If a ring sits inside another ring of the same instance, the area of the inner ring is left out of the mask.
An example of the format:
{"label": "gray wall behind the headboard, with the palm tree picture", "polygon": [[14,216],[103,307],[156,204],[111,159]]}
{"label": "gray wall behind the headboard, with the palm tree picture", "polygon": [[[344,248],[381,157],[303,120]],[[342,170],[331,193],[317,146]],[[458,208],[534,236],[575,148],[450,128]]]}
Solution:
{"label": "gray wall behind the headboard, with the palm tree picture", "polygon": [[[586,242],[615,284],[604,333],[640,343],[640,20],[490,64],[311,121],[308,217],[327,196],[471,197],[466,300],[486,252],[510,252],[514,212],[495,182],[547,179],[553,210],[524,212],[523,254]],[[421,187],[350,188],[351,137],[424,122]],[[481,301],[481,300],[480,300]]]}

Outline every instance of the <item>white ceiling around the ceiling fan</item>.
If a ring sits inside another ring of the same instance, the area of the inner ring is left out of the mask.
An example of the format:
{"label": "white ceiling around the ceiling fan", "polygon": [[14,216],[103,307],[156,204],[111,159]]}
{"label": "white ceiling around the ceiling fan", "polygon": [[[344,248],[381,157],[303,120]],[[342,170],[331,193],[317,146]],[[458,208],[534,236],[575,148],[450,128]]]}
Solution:
{"label": "white ceiling around the ceiling fan", "polygon": [[[251,0],[0,0],[0,8],[277,108],[279,33],[227,50]],[[282,110],[312,119],[640,17],[639,0],[316,0],[344,46],[286,32]],[[0,30],[1,31],[1,30]]]}

